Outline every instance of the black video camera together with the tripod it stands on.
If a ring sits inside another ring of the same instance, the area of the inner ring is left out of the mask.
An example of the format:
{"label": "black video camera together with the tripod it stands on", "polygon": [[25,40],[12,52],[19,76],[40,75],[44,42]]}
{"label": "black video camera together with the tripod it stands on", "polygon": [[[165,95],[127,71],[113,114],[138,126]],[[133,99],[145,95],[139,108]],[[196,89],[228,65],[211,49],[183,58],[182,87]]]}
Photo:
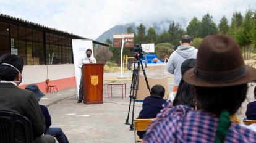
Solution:
{"label": "black video camera together with the tripod it stands on", "polygon": [[[143,63],[142,63],[142,56],[145,55],[145,52],[142,49],[141,44],[137,44],[136,47],[131,49],[131,52],[134,54],[135,60],[134,60],[134,70],[132,73],[132,83],[130,86],[130,104],[129,104],[129,110],[128,110],[128,115],[126,119],[126,124],[130,125],[130,130],[134,130],[134,107],[135,107],[135,99],[137,98],[137,91],[139,89],[139,75],[140,75],[140,66],[142,67],[143,75],[147,84],[148,91],[151,94],[150,87],[148,84],[148,79],[147,75],[145,73],[145,70],[143,68]],[[133,105],[132,105],[132,121],[129,123],[129,115],[130,115],[130,107],[132,104],[133,100]]]}

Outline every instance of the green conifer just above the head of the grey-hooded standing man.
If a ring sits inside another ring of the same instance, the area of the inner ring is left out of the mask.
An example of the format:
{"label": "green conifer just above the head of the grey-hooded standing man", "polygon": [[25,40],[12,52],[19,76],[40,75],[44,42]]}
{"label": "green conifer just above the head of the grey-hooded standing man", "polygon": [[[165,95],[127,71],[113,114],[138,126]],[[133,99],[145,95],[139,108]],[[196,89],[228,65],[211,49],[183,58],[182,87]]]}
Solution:
{"label": "green conifer just above the head of the grey-hooded standing man", "polygon": [[187,25],[187,34],[191,39],[200,37],[200,21],[194,17]]}

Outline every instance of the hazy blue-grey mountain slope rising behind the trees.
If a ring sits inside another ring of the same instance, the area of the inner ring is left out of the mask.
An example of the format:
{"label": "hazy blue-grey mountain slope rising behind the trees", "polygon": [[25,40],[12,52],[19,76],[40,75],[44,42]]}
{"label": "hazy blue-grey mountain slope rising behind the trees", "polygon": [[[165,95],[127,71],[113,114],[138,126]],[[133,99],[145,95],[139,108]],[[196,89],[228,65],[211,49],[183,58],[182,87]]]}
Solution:
{"label": "hazy blue-grey mountain slope rising behind the trees", "polygon": [[[150,24],[143,24],[147,27],[146,30],[148,30],[148,28],[153,27],[156,30],[156,33],[160,34],[162,33],[164,30],[168,30],[169,29],[169,24],[171,23],[171,20],[164,20],[161,22],[153,22]],[[102,43],[105,43],[106,39],[111,39],[111,41],[113,41],[113,34],[114,33],[126,33],[126,29],[127,27],[132,26],[132,28],[137,31],[137,25],[135,23],[129,23],[129,24],[125,24],[125,25],[115,25],[114,27],[110,28],[109,30],[105,31],[104,33],[102,33],[97,39],[96,41],[100,41]]]}

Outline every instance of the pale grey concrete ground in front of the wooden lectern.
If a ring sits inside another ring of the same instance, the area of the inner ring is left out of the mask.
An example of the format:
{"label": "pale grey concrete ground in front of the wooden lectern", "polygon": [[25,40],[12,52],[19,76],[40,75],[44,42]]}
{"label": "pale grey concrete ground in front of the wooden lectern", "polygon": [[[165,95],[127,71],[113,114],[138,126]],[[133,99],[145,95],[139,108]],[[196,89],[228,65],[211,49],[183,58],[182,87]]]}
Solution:
{"label": "pale grey concrete ground in front of the wooden lectern", "polygon": [[[77,90],[75,87],[59,90],[58,93],[48,93],[40,100],[40,104],[48,106],[52,118],[52,126],[62,128],[69,142],[134,142],[134,132],[125,125],[129,108],[130,78],[126,73],[119,78],[116,73],[105,74],[103,104],[77,104]],[[113,86],[113,97],[107,99],[106,83],[122,81],[126,84],[126,97],[122,99],[121,86]],[[169,79],[169,90],[173,87],[173,80]],[[246,105],[253,100],[253,89],[249,88],[248,100],[242,104],[237,112],[240,119],[245,117]],[[142,102],[135,102],[137,118],[142,108]],[[130,123],[131,119],[129,119]]]}

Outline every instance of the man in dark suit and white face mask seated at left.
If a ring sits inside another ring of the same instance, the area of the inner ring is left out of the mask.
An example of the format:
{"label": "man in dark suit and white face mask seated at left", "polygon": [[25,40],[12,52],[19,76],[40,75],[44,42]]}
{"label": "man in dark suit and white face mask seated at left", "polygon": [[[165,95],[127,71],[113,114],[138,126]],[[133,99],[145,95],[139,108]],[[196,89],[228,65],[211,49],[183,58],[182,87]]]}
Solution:
{"label": "man in dark suit and white face mask seated at left", "polygon": [[[45,118],[34,93],[18,87],[22,81],[23,65],[18,55],[0,57],[0,110],[26,116],[32,123],[33,142],[55,142],[52,136],[41,136],[45,131]],[[23,133],[15,134],[15,142],[25,142]]]}

